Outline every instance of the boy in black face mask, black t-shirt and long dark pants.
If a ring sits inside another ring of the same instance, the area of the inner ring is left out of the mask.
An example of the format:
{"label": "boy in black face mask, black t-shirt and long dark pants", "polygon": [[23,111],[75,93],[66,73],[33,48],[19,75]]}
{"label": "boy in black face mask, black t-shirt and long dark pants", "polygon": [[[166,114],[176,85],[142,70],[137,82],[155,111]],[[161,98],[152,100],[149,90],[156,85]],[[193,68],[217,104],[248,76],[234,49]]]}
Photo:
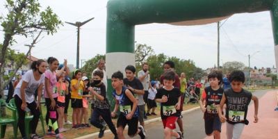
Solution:
{"label": "boy in black face mask, black t-shirt and long dark pants", "polygon": [[100,129],[99,138],[104,136],[104,131],[106,130],[106,126],[101,124],[99,120],[99,116],[104,119],[104,121],[108,124],[109,129],[114,134],[114,138],[117,138],[117,131],[111,119],[110,112],[110,104],[106,97],[106,86],[102,83],[102,79],[104,79],[104,72],[101,70],[96,70],[93,74],[93,82],[92,86],[88,88],[90,93],[96,97],[95,99],[95,108],[92,111],[92,117],[90,118],[90,122],[93,126],[96,126]]}

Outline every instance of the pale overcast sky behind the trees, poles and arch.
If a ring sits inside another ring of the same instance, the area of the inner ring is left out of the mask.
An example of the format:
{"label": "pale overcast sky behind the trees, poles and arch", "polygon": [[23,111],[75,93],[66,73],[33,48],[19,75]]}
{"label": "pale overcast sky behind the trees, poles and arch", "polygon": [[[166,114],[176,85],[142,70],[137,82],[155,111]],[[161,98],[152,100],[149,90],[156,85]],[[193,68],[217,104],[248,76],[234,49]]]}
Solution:
{"label": "pale overcast sky behind the trees, poles and arch", "polygon": [[[5,13],[3,2],[0,1],[1,14]],[[107,0],[40,2],[42,8],[50,6],[63,22],[83,22],[95,17],[81,27],[80,59],[88,60],[96,54],[105,54]],[[32,49],[33,56],[54,56],[60,62],[67,58],[68,63],[75,65],[76,27],[64,24],[53,36],[43,36],[44,38]],[[12,48],[26,52],[27,47],[24,47],[24,44],[30,43],[31,39],[21,36],[17,36],[16,39],[18,43]],[[3,42],[3,32],[0,33],[0,40]],[[164,53],[167,56],[191,59],[203,69],[217,64],[216,23],[200,26],[140,25],[136,26],[136,42],[152,46],[156,54]],[[233,15],[220,29],[220,65],[236,60],[248,66],[248,54],[254,54],[250,59],[251,67],[275,65],[274,41],[268,11]]]}

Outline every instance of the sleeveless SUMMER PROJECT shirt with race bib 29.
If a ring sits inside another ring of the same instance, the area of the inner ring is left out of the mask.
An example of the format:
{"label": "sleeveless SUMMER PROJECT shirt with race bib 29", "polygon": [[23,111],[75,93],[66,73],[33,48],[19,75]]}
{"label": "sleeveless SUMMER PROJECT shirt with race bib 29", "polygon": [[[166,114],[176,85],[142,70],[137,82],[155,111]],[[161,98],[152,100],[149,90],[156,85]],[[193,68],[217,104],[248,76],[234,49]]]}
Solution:
{"label": "sleeveless SUMMER PROJECT shirt with race bib 29", "polygon": [[227,104],[225,115],[227,122],[230,124],[248,124],[249,122],[246,120],[246,116],[252,93],[244,89],[241,92],[234,92],[234,90],[229,88],[224,90],[224,95],[226,97],[225,103]]}

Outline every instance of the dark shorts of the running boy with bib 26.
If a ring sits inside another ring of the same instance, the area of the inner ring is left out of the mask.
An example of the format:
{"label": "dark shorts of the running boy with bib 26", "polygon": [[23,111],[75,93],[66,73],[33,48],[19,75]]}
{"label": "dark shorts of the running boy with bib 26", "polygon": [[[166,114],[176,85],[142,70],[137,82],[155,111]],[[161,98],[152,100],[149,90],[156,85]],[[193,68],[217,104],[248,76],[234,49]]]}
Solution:
{"label": "dark shorts of the running boy with bib 26", "polygon": [[221,122],[218,116],[213,118],[205,118],[204,119],[204,129],[206,131],[206,135],[210,135],[213,131],[217,130],[221,132]]}

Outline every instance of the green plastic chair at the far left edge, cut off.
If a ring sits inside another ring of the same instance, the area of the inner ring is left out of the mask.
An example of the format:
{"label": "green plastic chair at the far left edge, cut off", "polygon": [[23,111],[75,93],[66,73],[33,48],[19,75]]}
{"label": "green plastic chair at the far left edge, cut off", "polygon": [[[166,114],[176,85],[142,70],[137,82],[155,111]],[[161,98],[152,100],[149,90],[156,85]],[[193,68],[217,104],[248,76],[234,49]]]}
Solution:
{"label": "green plastic chair at the far left edge, cut off", "polygon": [[6,133],[6,126],[7,124],[12,124],[13,125],[13,133],[15,138],[17,138],[17,110],[13,107],[10,107],[6,104],[6,102],[3,99],[0,99],[0,108],[2,106],[6,106],[6,108],[8,108],[10,111],[13,112],[13,115],[11,118],[8,117],[1,117],[1,111],[0,111],[0,126],[1,126],[1,138],[5,137],[5,133]]}

